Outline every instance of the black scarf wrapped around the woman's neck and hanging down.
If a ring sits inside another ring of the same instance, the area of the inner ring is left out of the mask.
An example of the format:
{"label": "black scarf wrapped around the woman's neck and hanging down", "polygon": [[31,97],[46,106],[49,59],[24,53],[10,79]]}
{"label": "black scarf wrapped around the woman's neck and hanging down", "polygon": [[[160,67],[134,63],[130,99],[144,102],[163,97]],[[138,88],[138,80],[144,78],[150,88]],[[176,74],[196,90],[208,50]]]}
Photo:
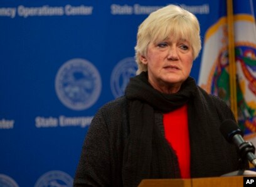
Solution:
{"label": "black scarf wrapped around the woman's neck and hanging down", "polygon": [[[154,123],[154,111],[168,113],[188,104],[188,124],[193,125],[193,132],[196,131],[198,136],[203,136],[193,141],[201,141],[201,138],[207,136],[201,125],[205,123],[206,116],[203,115],[202,101],[198,95],[195,80],[190,77],[184,81],[181,89],[175,94],[163,94],[152,88],[145,72],[131,78],[125,89],[125,96],[131,101],[131,106],[129,108],[130,133],[124,149],[122,170],[124,186],[137,186],[142,179],[180,178],[178,159],[168,141],[161,134],[159,126]],[[191,129],[189,133],[191,136]],[[198,163],[192,158],[191,168],[203,171],[203,166],[195,168],[193,164]],[[200,176],[201,171],[198,172],[195,176]]]}

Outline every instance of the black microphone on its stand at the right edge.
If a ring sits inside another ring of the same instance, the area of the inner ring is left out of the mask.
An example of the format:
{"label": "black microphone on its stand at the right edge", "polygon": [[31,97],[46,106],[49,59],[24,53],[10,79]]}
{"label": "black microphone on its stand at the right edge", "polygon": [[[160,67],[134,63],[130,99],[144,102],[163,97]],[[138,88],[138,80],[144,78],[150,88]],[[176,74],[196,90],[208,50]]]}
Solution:
{"label": "black microphone on its stand at the right edge", "polygon": [[255,147],[252,143],[243,139],[243,132],[238,127],[237,123],[232,119],[226,119],[221,123],[220,131],[229,143],[234,143],[238,146],[241,158],[247,158],[256,168],[256,156],[254,155]]}

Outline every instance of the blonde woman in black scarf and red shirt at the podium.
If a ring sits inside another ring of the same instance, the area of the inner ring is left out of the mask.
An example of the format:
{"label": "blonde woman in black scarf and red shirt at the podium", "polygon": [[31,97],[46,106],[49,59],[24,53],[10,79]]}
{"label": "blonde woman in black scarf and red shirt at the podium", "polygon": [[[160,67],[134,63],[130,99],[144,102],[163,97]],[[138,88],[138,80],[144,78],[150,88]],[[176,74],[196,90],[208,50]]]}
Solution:
{"label": "blonde woman in black scarf and red shirt at the podium", "polygon": [[201,49],[196,17],[174,5],[157,10],[139,26],[135,49],[138,75],[92,120],[74,186],[137,186],[243,168],[219,131],[232,111],[189,77]]}

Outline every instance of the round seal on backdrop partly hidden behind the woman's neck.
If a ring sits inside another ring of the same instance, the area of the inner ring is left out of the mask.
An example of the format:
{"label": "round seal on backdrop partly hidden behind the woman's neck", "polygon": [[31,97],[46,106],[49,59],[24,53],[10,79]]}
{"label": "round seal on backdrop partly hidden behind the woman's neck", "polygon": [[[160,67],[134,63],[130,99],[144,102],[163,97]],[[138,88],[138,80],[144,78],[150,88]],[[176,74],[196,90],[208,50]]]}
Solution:
{"label": "round seal on backdrop partly hidden behind the woman's neck", "polygon": [[119,61],[112,71],[110,86],[115,98],[124,95],[125,88],[130,78],[136,76],[137,64],[134,58],[125,58]]}

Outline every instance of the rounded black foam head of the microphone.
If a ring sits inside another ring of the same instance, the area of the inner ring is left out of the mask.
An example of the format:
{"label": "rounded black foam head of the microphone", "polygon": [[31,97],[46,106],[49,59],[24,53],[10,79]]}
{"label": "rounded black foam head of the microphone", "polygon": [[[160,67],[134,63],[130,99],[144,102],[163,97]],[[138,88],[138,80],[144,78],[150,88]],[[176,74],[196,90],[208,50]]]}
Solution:
{"label": "rounded black foam head of the microphone", "polygon": [[226,119],[220,125],[220,132],[229,143],[232,143],[232,138],[235,134],[240,134],[243,136],[242,130],[239,128],[238,124],[232,119]]}

